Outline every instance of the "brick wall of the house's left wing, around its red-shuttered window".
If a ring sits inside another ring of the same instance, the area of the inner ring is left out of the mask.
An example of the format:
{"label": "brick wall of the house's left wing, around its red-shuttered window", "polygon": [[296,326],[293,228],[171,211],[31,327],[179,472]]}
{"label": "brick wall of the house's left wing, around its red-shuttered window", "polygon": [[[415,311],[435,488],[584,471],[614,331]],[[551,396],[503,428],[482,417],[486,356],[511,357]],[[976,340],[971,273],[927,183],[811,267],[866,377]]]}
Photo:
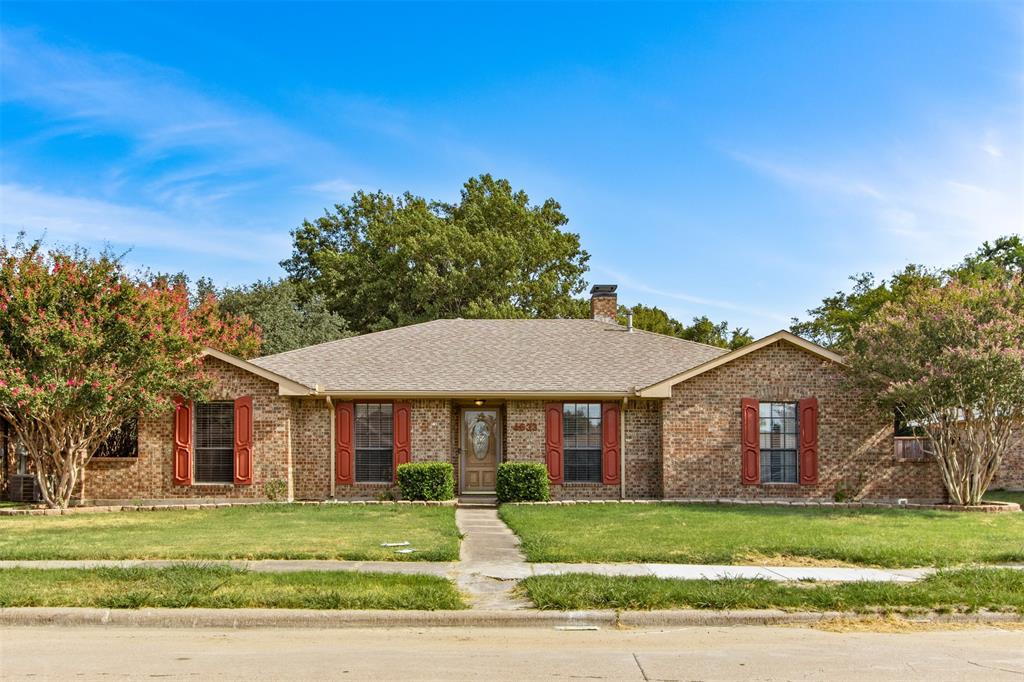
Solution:
{"label": "brick wall of the house's left wing, around its red-shuttered window", "polygon": [[278,385],[207,357],[213,379],[211,400],[253,397],[253,484],[174,485],[172,482],[173,412],[143,417],[138,424],[138,457],[94,459],[86,467],[82,497],[86,500],[159,500],[179,498],[263,498],[263,485],[281,479],[292,489],[292,404],[278,395]]}

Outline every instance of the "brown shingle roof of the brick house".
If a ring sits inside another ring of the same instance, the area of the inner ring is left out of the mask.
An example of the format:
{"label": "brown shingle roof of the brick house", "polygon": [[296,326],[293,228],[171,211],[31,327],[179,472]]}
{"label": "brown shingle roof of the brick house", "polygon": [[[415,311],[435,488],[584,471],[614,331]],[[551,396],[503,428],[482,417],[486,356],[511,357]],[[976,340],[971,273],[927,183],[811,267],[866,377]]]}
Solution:
{"label": "brown shingle roof of the brick house", "polygon": [[627,394],[725,352],[593,319],[437,319],[252,363],[343,394]]}

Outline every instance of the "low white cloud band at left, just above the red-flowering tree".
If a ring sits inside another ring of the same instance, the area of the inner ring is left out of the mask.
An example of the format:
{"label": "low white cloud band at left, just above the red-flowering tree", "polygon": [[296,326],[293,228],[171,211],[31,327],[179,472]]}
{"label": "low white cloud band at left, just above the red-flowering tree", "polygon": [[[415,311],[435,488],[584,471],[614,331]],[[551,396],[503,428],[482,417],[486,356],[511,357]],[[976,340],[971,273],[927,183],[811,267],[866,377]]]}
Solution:
{"label": "low white cloud band at left, just above the red-flowering tree", "polygon": [[219,255],[270,262],[287,253],[288,237],[251,229],[182,222],[147,208],[0,184],[0,235],[26,231],[35,239],[91,246],[158,247],[174,253]]}

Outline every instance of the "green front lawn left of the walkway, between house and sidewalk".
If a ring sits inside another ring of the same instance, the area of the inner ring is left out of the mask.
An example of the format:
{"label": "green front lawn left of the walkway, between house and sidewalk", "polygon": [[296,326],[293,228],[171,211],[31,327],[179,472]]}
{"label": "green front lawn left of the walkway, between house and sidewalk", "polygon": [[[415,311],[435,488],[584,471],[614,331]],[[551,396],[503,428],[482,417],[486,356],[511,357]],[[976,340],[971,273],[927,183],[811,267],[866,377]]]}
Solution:
{"label": "green front lawn left of the walkway, between house and sidewalk", "polygon": [[[380,546],[404,541],[417,551]],[[451,507],[252,505],[0,517],[0,559],[458,558]]]}

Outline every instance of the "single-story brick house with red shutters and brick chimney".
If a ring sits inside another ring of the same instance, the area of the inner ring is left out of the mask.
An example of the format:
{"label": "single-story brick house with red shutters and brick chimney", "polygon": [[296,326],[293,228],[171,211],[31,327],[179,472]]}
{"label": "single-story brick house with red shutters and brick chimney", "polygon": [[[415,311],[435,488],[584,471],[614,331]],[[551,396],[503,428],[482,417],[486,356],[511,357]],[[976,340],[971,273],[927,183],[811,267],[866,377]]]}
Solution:
{"label": "single-story brick house with red shutters and brick chimney", "polygon": [[[251,361],[209,350],[208,400],[140,418],[137,445],[93,458],[78,498],[263,499],[280,481],[288,499],[373,500],[423,461],[451,462],[471,495],[494,491],[498,463],[536,461],[553,499],[944,499],[831,351],[784,331],[726,351],[630,329],[614,291],[594,287],[591,319],[438,319]],[[24,466],[10,440],[8,478]],[[1024,486],[1022,449],[999,476]]]}

